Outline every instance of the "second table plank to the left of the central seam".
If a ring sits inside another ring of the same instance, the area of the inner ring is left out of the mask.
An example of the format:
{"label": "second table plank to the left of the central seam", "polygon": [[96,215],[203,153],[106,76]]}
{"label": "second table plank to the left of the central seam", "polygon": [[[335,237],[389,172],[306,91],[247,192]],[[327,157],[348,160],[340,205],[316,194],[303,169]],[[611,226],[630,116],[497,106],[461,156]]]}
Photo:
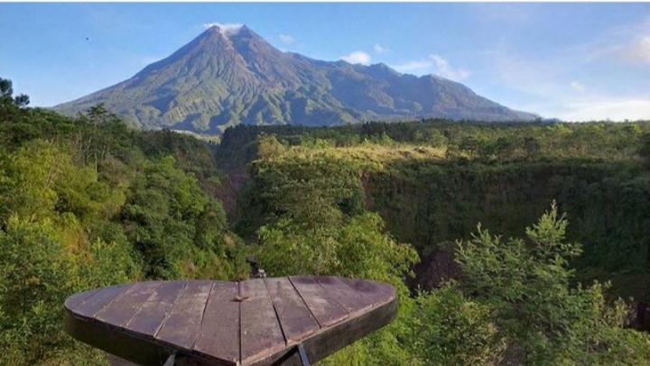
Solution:
{"label": "second table plank to the left of the central seam", "polygon": [[209,280],[188,282],[181,295],[176,298],[155,339],[191,351],[211,288],[212,281]]}

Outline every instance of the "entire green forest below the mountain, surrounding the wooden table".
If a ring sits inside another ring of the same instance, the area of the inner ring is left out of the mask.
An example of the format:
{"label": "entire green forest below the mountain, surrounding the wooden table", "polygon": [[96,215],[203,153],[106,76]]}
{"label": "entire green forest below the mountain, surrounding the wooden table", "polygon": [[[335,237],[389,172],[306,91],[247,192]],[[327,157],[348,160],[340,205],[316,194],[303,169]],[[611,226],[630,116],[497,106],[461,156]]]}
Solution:
{"label": "entire green forest below the mountain, surrounding the wooden table", "polygon": [[627,298],[647,300],[630,279],[650,261],[650,124],[237,126],[213,144],[28,104],[0,79],[2,365],[106,363],[63,333],[66,297],[243,279],[250,254],[269,276],[397,289],[395,322],[323,365],[650,364]]}

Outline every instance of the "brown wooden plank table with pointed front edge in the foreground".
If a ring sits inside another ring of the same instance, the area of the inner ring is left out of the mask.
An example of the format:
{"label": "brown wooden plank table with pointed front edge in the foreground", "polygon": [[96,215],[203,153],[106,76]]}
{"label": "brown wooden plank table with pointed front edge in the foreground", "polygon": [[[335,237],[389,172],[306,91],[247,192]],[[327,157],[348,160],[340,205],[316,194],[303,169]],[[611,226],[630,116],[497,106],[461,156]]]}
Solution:
{"label": "brown wooden plank table with pointed front edge in the foreground", "polygon": [[338,277],[151,281],[94,289],[65,302],[66,331],[128,361],[162,365],[311,362],[390,323],[395,289]]}

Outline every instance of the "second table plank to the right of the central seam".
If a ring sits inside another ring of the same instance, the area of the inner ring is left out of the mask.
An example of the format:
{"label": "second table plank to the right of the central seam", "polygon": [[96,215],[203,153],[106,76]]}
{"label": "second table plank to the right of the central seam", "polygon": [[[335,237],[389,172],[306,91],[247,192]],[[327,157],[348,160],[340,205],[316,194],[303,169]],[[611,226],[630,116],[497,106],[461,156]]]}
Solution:
{"label": "second table plank to the right of the central seam", "polygon": [[302,297],[293,288],[289,279],[267,278],[265,282],[287,344],[299,342],[320,329],[310,309],[302,301]]}

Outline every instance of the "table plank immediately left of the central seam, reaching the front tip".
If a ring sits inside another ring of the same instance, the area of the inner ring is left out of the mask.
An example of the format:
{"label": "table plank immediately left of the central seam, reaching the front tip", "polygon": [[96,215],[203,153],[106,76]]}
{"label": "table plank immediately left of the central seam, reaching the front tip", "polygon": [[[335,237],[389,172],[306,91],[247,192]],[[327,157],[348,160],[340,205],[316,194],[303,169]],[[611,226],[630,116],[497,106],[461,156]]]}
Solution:
{"label": "table plank immediately left of the central seam, reaching the front tip", "polygon": [[225,364],[239,361],[239,286],[215,281],[205,308],[194,350],[218,358]]}

